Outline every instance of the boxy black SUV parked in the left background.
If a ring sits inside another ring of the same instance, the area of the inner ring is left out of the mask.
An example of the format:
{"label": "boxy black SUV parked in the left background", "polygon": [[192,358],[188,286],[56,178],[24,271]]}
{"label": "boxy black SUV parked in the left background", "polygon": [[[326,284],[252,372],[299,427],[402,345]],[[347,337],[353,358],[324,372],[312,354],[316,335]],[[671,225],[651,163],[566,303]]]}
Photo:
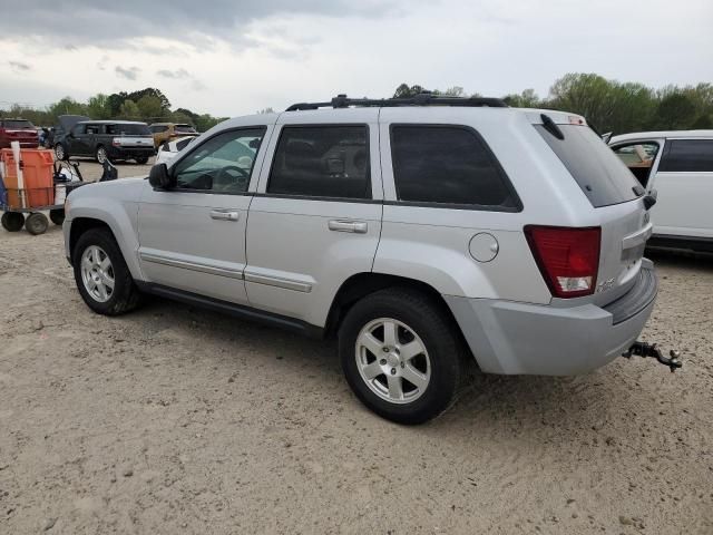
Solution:
{"label": "boxy black SUV parked in the left background", "polygon": [[[77,116],[74,116],[77,117]],[[134,159],[145,164],[154,155],[154,138],[146,123],[133,120],[65,120],[65,134],[55,138],[58,159],[89,156],[105,159]]]}

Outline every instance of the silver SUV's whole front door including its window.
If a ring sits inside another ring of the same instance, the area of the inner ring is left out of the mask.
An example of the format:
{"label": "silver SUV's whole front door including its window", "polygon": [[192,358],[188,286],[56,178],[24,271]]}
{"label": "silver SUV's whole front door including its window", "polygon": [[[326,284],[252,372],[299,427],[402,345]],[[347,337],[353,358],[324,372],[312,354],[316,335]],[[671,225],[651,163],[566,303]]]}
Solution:
{"label": "silver SUV's whole front door including its window", "polygon": [[250,183],[260,171],[267,128],[217,134],[172,165],[176,187],[146,183],[138,217],[147,282],[246,304],[245,225]]}

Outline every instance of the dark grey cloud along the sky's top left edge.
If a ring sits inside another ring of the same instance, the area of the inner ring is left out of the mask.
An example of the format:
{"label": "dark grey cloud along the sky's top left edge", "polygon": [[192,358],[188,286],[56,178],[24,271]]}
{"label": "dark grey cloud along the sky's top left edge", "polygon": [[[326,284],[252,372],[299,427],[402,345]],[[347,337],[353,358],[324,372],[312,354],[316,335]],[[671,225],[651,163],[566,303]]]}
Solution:
{"label": "dark grey cloud along the sky's top left edge", "polygon": [[250,23],[270,17],[382,18],[404,12],[398,0],[174,0],[169,6],[144,0],[65,0],[61,6],[71,13],[69,30],[57,23],[56,12],[42,2],[25,2],[12,8],[11,17],[0,17],[0,36],[60,42],[69,50],[79,46],[134,48],[136,38],[166,38],[196,49],[221,39],[244,48],[254,46],[245,36]]}

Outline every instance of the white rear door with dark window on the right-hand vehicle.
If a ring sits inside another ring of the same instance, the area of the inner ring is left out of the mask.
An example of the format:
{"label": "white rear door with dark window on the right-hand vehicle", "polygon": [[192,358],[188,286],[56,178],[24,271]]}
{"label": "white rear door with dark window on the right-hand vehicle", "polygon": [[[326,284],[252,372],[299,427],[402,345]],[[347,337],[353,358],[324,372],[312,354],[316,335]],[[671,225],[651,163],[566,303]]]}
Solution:
{"label": "white rear door with dark window on the right-hand vehicle", "polygon": [[656,234],[713,237],[713,139],[666,140],[654,187]]}

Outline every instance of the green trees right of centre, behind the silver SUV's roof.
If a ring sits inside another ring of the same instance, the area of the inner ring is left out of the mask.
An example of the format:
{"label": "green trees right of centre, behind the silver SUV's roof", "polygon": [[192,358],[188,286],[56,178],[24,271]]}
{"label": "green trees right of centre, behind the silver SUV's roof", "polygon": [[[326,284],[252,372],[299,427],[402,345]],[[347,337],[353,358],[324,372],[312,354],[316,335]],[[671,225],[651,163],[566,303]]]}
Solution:
{"label": "green trees right of centre, behind the silver SUV's roof", "polygon": [[[394,98],[422,93],[423,87],[401,84]],[[437,95],[468,95],[462,87],[432,90]],[[647,87],[638,82],[607,80],[594,74],[568,74],[553,84],[546,97],[534,89],[505,95],[518,108],[560,109],[583,115],[602,133],[625,134],[642,130],[687,130],[713,128],[713,84]]]}

